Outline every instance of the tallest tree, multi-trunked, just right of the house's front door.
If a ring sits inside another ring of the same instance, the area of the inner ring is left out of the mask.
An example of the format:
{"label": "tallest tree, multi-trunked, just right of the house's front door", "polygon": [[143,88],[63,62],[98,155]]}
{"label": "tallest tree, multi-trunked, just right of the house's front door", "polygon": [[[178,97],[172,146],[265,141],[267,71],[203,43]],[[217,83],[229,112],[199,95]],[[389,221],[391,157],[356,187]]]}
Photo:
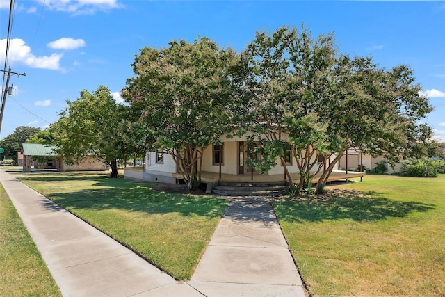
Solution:
{"label": "tallest tree, multi-trunked, just right of the house's front door", "polygon": [[[332,35],[314,40],[307,29],[283,26],[257,33],[241,55],[248,69],[239,83],[247,110],[237,110],[248,117],[238,118],[241,132],[253,134],[261,153],[250,165],[266,171],[279,158],[292,190],[307,187],[323,165],[317,156],[327,152],[329,138],[318,113],[329,95],[335,54]],[[287,168],[290,156],[300,171],[296,186]]]}

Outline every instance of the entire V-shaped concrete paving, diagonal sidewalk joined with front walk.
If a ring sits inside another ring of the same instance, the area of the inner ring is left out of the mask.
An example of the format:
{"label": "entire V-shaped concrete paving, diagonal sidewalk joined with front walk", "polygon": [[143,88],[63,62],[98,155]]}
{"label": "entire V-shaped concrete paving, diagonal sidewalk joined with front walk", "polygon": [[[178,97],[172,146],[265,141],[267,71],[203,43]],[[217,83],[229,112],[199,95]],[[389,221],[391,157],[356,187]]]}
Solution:
{"label": "entire V-shaped concrete paving, diagonal sidewalk joined with front walk", "polygon": [[234,198],[190,282],[131,250],[0,171],[63,296],[305,296],[270,203]]}

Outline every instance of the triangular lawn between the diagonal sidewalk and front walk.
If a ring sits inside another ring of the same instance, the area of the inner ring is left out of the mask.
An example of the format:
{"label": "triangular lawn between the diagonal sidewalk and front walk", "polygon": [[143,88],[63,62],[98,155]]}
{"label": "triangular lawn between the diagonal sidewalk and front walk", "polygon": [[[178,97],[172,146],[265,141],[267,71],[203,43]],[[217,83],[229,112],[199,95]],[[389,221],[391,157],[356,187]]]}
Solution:
{"label": "triangular lawn between the diagonal sidewalk and front walk", "polygon": [[161,193],[154,183],[56,173],[18,178],[137,251],[177,280],[188,280],[228,201]]}

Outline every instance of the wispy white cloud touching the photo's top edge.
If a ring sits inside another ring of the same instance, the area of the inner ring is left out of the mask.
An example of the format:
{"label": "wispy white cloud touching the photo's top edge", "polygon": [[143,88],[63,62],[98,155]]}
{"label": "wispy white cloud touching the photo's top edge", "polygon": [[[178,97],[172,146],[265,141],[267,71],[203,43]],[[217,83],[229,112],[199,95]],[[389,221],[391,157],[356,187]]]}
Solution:
{"label": "wispy white cloud touching the photo's top edge", "polygon": [[97,10],[122,7],[117,0],[37,0],[51,10],[74,14],[92,14]]}

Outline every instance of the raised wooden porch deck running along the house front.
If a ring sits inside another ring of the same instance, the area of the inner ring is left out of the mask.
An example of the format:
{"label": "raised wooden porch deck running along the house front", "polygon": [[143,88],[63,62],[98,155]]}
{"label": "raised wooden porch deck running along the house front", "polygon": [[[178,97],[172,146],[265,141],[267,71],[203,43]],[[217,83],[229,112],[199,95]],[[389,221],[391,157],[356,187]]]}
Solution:
{"label": "raised wooden porch deck running along the house front", "polygon": [[[318,176],[321,173],[318,173],[314,177],[314,183],[318,182]],[[366,175],[365,172],[353,172],[353,171],[340,171],[335,170],[332,171],[327,182],[334,182],[337,180],[346,180],[346,179],[355,179],[359,178],[362,180],[362,177]],[[173,174],[177,179],[182,179],[182,175],[175,173]],[[294,181],[298,182],[300,180],[300,175],[298,173],[291,174]],[[218,172],[202,172],[201,174],[202,182],[204,183],[213,183],[213,182],[286,182],[287,179],[284,177],[284,174],[281,175],[253,175],[253,179],[251,175],[227,175],[222,174],[221,178],[219,178]]]}

